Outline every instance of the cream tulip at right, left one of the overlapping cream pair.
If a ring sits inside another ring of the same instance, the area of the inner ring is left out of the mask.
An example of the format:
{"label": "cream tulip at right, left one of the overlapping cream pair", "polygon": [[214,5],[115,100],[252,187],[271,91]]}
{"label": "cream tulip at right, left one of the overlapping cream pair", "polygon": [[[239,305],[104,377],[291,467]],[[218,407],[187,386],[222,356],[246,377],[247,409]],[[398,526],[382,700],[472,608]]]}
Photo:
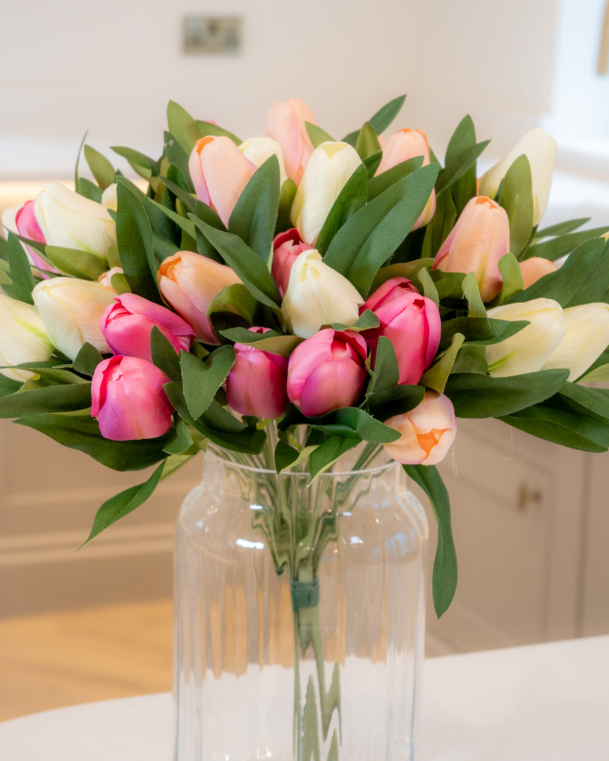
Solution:
{"label": "cream tulip at right, left one of the overlapping cream pair", "polygon": [[488,315],[493,320],[527,320],[531,323],[505,341],[486,346],[489,374],[494,377],[541,370],[566,333],[563,308],[550,298],[503,304],[489,309]]}

